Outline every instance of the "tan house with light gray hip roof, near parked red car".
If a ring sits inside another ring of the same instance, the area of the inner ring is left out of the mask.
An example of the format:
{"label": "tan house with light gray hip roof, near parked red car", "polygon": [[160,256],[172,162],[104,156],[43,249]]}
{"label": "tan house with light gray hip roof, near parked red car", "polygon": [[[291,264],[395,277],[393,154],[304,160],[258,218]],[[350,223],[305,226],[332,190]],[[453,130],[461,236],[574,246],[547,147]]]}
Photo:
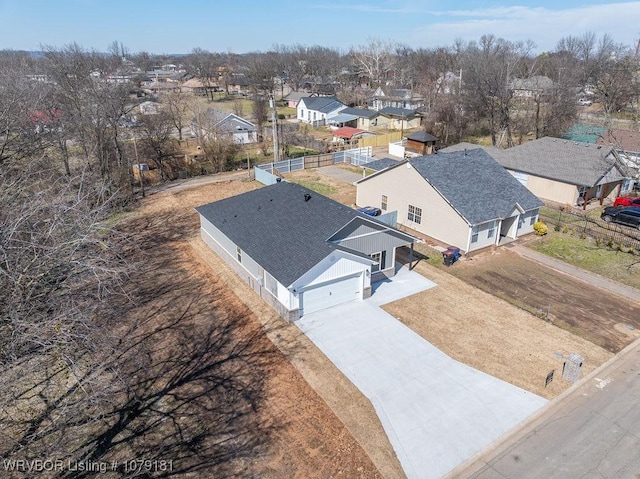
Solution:
{"label": "tan house with light gray hip roof, near parked red car", "polygon": [[560,205],[603,204],[633,187],[615,150],[607,146],[544,137],[487,151],[533,194]]}

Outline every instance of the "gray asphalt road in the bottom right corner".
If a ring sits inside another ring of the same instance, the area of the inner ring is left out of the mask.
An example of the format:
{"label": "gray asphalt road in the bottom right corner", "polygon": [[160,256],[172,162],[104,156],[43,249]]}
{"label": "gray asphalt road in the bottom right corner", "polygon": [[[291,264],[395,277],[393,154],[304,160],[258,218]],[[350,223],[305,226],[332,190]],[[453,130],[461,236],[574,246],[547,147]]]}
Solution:
{"label": "gray asphalt road in the bottom right corner", "polygon": [[448,477],[637,479],[638,398],[640,340]]}

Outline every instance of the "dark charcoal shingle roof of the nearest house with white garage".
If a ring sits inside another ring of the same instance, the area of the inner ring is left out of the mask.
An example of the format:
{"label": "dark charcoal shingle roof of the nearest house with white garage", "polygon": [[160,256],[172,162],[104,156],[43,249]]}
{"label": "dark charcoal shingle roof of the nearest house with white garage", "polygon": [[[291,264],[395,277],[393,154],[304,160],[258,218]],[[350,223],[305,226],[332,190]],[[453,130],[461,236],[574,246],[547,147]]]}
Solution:
{"label": "dark charcoal shingle roof of the nearest house with white garage", "polygon": [[[308,201],[305,195],[310,195]],[[364,218],[378,223],[348,206],[287,182],[196,210],[285,286],[332,251],[344,250],[327,239],[349,221]],[[403,234],[395,231],[392,234],[395,233]]]}

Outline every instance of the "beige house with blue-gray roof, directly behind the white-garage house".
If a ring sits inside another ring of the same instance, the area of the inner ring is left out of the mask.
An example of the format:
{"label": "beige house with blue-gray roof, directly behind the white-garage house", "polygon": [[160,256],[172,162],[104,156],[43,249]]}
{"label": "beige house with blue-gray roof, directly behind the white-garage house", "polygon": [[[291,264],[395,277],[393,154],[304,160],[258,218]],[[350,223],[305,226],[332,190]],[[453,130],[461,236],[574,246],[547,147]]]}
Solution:
{"label": "beige house with blue-gray roof, directly behind the white-garage house", "polygon": [[481,148],[403,160],[356,186],[358,205],[465,252],[533,232],[543,205]]}

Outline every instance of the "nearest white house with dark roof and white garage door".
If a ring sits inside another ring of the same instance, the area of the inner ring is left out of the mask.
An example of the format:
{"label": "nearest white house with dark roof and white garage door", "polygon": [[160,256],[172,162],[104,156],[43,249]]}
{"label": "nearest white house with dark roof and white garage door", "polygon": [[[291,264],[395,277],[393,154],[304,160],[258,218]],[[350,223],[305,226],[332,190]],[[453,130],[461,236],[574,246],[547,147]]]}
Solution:
{"label": "nearest white house with dark roof and white garage door", "polygon": [[202,239],[282,317],[371,295],[417,238],[280,182],[196,208]]}

